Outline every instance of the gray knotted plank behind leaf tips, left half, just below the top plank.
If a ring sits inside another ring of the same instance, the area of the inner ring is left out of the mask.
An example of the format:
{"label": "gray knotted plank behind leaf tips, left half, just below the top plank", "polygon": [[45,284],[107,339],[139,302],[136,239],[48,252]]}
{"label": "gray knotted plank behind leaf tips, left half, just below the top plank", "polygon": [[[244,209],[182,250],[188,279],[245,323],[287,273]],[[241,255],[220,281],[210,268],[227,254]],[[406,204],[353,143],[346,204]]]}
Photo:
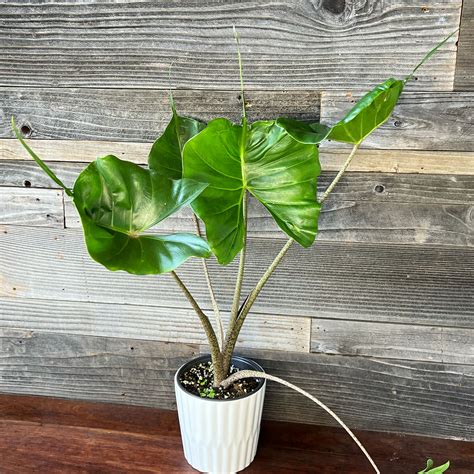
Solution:
{"label": "gray knotted plank behind leaf tips, left half, just below the top plank", "polygon": [[[166,90],[151,89],[0,89],[0,110],[15,117],[33,138],[152,142],[171,118]],[[239,92],[176,91],[178,112],[205,122],[226,117],[240,122]],[[251,120],[280,115],[318,120],[320,94],[310,91],[255,91],[246,97]],[[0,122],[0,137],[14,137],[9,120]],[[146,160],[149,149],[143,157]],[[76,161],[81,150],[75,150]]]}

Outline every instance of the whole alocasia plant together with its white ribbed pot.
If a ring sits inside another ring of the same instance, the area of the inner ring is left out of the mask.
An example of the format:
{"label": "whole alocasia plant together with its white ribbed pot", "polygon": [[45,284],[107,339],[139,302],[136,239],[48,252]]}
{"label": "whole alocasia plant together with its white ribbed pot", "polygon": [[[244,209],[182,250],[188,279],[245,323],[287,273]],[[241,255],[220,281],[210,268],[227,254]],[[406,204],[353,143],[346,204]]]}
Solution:
{"label": "whole alocasia plant together with its white ribbed pot", "polygon": [[[367,451],[328,407],[298,387],[265,374],[255,362],[237,357],[234,350],[252,305],[289,248],[295,243],[303,247],[313,244],[321,206],[362,141],[389,118],[405,84],[451,36],[431,50],[408,77],[387,79],[360,99],[342,120],[326,126],[286,118],[253,123],[248,120],[236,35],[242,94],[240,124],[224,118],[204,124],[181,117],[170,94],[172,118],[151,148],[148,168],[109,155],[87,166],[73,189],[66,187],[25,143],[12,118],[15,134],[28,153],[73,199],[90,256],[112,271],[170,273],[200,319],[210,355],[189,361],[174,379],[184,452],[196,469],[236,472],[252,462],[265,384],[270,379],[303,393],[330,413],[378,472]],[[318,200],[318,145],[323,140],[349,143],[352,150]],[[263,204],[289,240],[255,288],[242,298],[249,196]],[[187,205],[194,211],[196,234],[148,232]],[[205,225],[206,239],[200,221]],[[226,330],[207,268],[206,258],[211,255],[222,265],[239,255]],[[191,257],[202,259],[214,324],[176,273]]]}

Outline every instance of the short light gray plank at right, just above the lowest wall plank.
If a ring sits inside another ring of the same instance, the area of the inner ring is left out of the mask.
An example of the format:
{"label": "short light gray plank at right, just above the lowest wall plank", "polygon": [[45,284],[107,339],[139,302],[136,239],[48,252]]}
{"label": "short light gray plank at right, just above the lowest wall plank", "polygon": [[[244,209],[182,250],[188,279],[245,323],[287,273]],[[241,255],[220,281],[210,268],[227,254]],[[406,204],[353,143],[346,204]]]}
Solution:
{"label": "short light gray plank at right, just above the lowest wall plank", "polygon": [[474,365],[474,329],[315,318],[311,350]]}

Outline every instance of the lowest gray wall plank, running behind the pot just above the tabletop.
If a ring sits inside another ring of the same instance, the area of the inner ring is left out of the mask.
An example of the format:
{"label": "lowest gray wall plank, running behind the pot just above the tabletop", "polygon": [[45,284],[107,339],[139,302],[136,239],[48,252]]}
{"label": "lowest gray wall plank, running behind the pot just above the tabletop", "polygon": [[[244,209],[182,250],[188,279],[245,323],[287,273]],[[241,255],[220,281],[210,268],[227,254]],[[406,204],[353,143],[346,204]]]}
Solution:
{"label": "lowest gray wall plank, running behind the pot just above the tabletop", "polygon": [[[172,377],[196,345],[0,330],[6,393],[174,408]],[[268,373],[321,398],[351,427],[473,439],[474,367],[403,360],[243,351]],[[324,412],[269,384],[265,417],[333,424]]]}

